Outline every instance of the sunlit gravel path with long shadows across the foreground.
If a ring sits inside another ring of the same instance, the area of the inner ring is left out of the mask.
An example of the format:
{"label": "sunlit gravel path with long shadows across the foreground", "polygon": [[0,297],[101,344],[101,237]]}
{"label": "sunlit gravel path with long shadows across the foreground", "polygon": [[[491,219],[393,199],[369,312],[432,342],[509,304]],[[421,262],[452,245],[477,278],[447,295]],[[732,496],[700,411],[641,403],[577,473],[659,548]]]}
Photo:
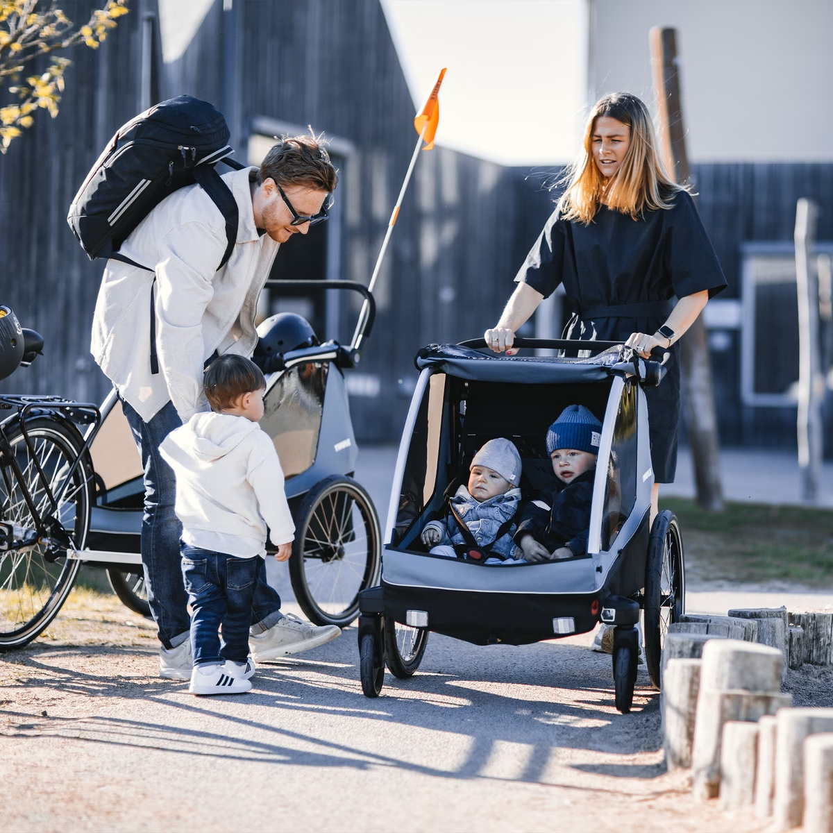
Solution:
{"label": "sunlit gravel path with long shadows across the foreground", "polygon": [[[2,827],[762,830],[665,773],[645,666],[619,715],[611,658],[590,641],[432,635],[420,672],[386,675],[367,700],[348,629],[262,666],[252,694],[197,698],[156,676],[151,623],[77,591],[45,637],[0,660]],[[830,683],[791,677],[809,701]]]}

